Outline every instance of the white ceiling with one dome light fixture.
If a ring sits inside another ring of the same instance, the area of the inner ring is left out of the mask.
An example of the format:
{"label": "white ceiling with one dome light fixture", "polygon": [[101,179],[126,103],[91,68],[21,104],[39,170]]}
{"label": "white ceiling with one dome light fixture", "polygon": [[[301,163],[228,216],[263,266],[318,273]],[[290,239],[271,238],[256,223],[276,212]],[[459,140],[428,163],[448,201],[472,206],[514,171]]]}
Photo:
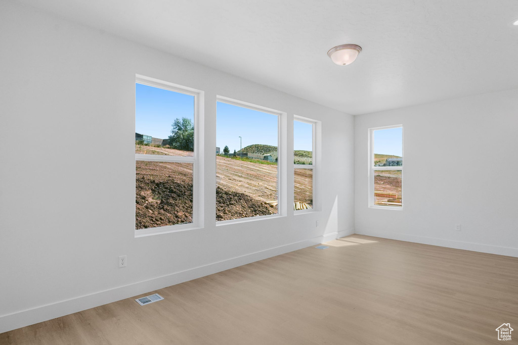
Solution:
{"label": "white ceiling with one dome light fixture", "polygon": [[350,114],[518,87],[516,0],[20,1]]}

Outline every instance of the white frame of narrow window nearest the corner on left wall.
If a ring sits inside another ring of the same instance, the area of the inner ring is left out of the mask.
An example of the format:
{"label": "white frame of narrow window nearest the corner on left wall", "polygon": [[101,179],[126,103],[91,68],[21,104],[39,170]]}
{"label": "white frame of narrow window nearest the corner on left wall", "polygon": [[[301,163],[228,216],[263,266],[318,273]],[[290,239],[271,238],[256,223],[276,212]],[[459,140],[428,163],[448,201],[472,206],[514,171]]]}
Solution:
{"label": "white frame of narrow window nearest the corner on left wall", "polygon": [[[293,177],[295,178],[295,169],[311,169],[312,170],[312,176],[313,176],[313,181],[312,181],[312,193],[313,193],[313,208],[311,209],[298,209],[298,210],[295,210],[295,205],[294,205],[294,209],[293,209],[293,213],[294,215],[300,215],[300,214],[305,214],[305,213],[311,213],[311,212],[317,212],[317,211],[320,211],[320,204],[319,204],[319,200],[320,200],[320,196],[319,196],[319,189],[317,188],[317,181],[318,181],[318,175],[319,175],[319,155],[317,154],[316,150],[318,148],[318,129],[320,128],[320,122],[319,121],[316,121],[314,119],[311,119],[311,118],[308,118],[308,117],[303,117],[303,116],[298,116],[298,115],[293,115],[293,121],[294,121],[294,126],[293,126],[293,140],[295,142],[295,121],[298,121],[298,122],[303,122],[303,123],[306,123],[306,124],[310,124],[311,125],[311,130],[312,130],[312,152],[311,152],[311,165],[310,164],[295,164],[293,163]],[[295,147],[293,147],[293,157],[292,157],[292,161],[295,160]],[[293,181],[293,188],[295,188],[295,180]],[[295,191],[293,192],[293,196],[295,196]],[[294,201],[294,204],[295,204],[295,201]]]}

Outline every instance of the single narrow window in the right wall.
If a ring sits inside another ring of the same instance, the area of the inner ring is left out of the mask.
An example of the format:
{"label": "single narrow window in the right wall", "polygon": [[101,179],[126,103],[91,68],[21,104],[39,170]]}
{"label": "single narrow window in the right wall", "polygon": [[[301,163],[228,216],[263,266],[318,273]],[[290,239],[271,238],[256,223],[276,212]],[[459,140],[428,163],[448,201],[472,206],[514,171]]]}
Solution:
{"label": "single narrow window in the right wall", "polygon": [[401,208],[403,127],[370,129],[369,206]]}

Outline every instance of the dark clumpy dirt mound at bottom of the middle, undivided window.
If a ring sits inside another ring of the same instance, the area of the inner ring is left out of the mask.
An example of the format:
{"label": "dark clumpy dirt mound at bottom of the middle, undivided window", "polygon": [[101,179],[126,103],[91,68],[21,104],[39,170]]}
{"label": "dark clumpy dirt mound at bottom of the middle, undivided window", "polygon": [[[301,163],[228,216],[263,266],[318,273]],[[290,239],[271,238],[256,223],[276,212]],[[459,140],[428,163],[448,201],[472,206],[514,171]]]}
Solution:
{"label": "dark clumpy dirt mound at bottom of the middle, undivided window", "polygon": [[216,188],[216,220],[267,216],[277,213],[277,206],[221,187]]}

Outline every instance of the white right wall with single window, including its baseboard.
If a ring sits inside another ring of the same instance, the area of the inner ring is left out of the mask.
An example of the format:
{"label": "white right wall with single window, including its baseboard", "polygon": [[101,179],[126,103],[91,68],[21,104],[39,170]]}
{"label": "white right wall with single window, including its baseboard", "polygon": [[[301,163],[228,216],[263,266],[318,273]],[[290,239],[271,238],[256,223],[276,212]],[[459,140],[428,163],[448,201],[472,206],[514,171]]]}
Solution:
{"label": "white right wall with single window, including its baseboard", "polygon": [[[369,208],[368,129],[399,124],[404,209]],[[518,257],[518,89],[356,116],[354,135],[356,233]]]}

